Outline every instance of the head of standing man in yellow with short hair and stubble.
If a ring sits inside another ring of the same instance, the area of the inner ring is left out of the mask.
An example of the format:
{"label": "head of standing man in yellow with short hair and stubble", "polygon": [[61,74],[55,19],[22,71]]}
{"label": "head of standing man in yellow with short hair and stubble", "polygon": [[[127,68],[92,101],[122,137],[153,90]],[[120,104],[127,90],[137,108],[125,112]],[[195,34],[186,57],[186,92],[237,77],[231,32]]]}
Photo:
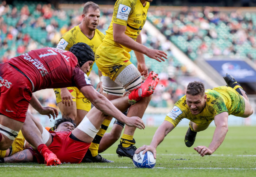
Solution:
{"label": "head of standing man in yellow with short hair and stubble", "polygon": [[96,30],[100,20],[100,7],[94,2],[87,2],[83,6],[82,28],[88,28],[91,31]]}

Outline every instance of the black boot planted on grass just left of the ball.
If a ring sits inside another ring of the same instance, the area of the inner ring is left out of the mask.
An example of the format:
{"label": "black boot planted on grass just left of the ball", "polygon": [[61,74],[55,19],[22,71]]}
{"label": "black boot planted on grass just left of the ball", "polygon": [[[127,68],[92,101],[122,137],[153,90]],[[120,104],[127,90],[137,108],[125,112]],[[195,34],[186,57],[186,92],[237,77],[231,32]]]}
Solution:
{"label": "black boot planted on grass just left of the ball", "polygon": [[118,157],[130,157],[131,159],[133,159],[134,153],[135,153],[137,147],[135,147],[132,144],[129,147],[123,147],[122,146],[123,143],[128,144],[126,142],[128,142],[128,143],[130,142],[132,144],[135,144],[134,139],[132,141],[130,141],[130,140],[126,140],[126,139],[121,138],[120,144],[118,145],[117,151],[116,151],[117,154],[118,154]]}

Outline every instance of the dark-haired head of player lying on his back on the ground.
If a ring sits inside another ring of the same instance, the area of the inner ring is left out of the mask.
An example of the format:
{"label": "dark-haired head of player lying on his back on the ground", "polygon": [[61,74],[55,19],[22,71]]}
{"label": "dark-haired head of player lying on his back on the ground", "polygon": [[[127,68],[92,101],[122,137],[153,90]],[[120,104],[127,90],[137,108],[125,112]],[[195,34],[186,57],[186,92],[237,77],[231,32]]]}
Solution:
{"label": "dark-haired head of player lying on his back on the ground", "polygon": [[55,121],[54,127],[50,131],[72,131],[75,127],[76,124],[71,118],[62,116],[61,119]]}

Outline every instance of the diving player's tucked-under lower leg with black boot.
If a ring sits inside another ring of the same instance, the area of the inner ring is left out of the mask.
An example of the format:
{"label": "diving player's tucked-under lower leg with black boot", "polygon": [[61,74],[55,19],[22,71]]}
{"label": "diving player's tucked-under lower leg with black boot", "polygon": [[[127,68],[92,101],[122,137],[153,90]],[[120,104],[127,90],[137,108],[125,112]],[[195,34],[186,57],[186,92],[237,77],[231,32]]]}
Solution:
{"label": "diving player's tucked-under lower leg with black boot", "polygon": [[197,132],[207,129],[207,127],[209,125],[210,125],[210,123],[200,125],[200,124],[196,124],[196,123],[190,121],[189,128],[187,129],[187,133],[186,133],[185,139],[184,139],[186,146],[191,147],[195,142]]}

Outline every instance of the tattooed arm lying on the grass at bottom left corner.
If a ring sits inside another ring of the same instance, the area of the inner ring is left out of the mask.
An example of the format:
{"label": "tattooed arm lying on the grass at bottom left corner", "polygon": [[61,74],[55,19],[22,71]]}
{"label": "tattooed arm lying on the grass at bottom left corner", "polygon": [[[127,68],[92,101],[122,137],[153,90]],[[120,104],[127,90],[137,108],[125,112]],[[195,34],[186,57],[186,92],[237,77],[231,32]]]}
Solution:
{"label": "tattooed arm lying on the grass at bottom left corner", "polygon": [[4,162],[6,163],[14,163],[14,162],[33,162],[32,153],[25,149],[23,151],[19,151],[10,157],[5,157]]}

